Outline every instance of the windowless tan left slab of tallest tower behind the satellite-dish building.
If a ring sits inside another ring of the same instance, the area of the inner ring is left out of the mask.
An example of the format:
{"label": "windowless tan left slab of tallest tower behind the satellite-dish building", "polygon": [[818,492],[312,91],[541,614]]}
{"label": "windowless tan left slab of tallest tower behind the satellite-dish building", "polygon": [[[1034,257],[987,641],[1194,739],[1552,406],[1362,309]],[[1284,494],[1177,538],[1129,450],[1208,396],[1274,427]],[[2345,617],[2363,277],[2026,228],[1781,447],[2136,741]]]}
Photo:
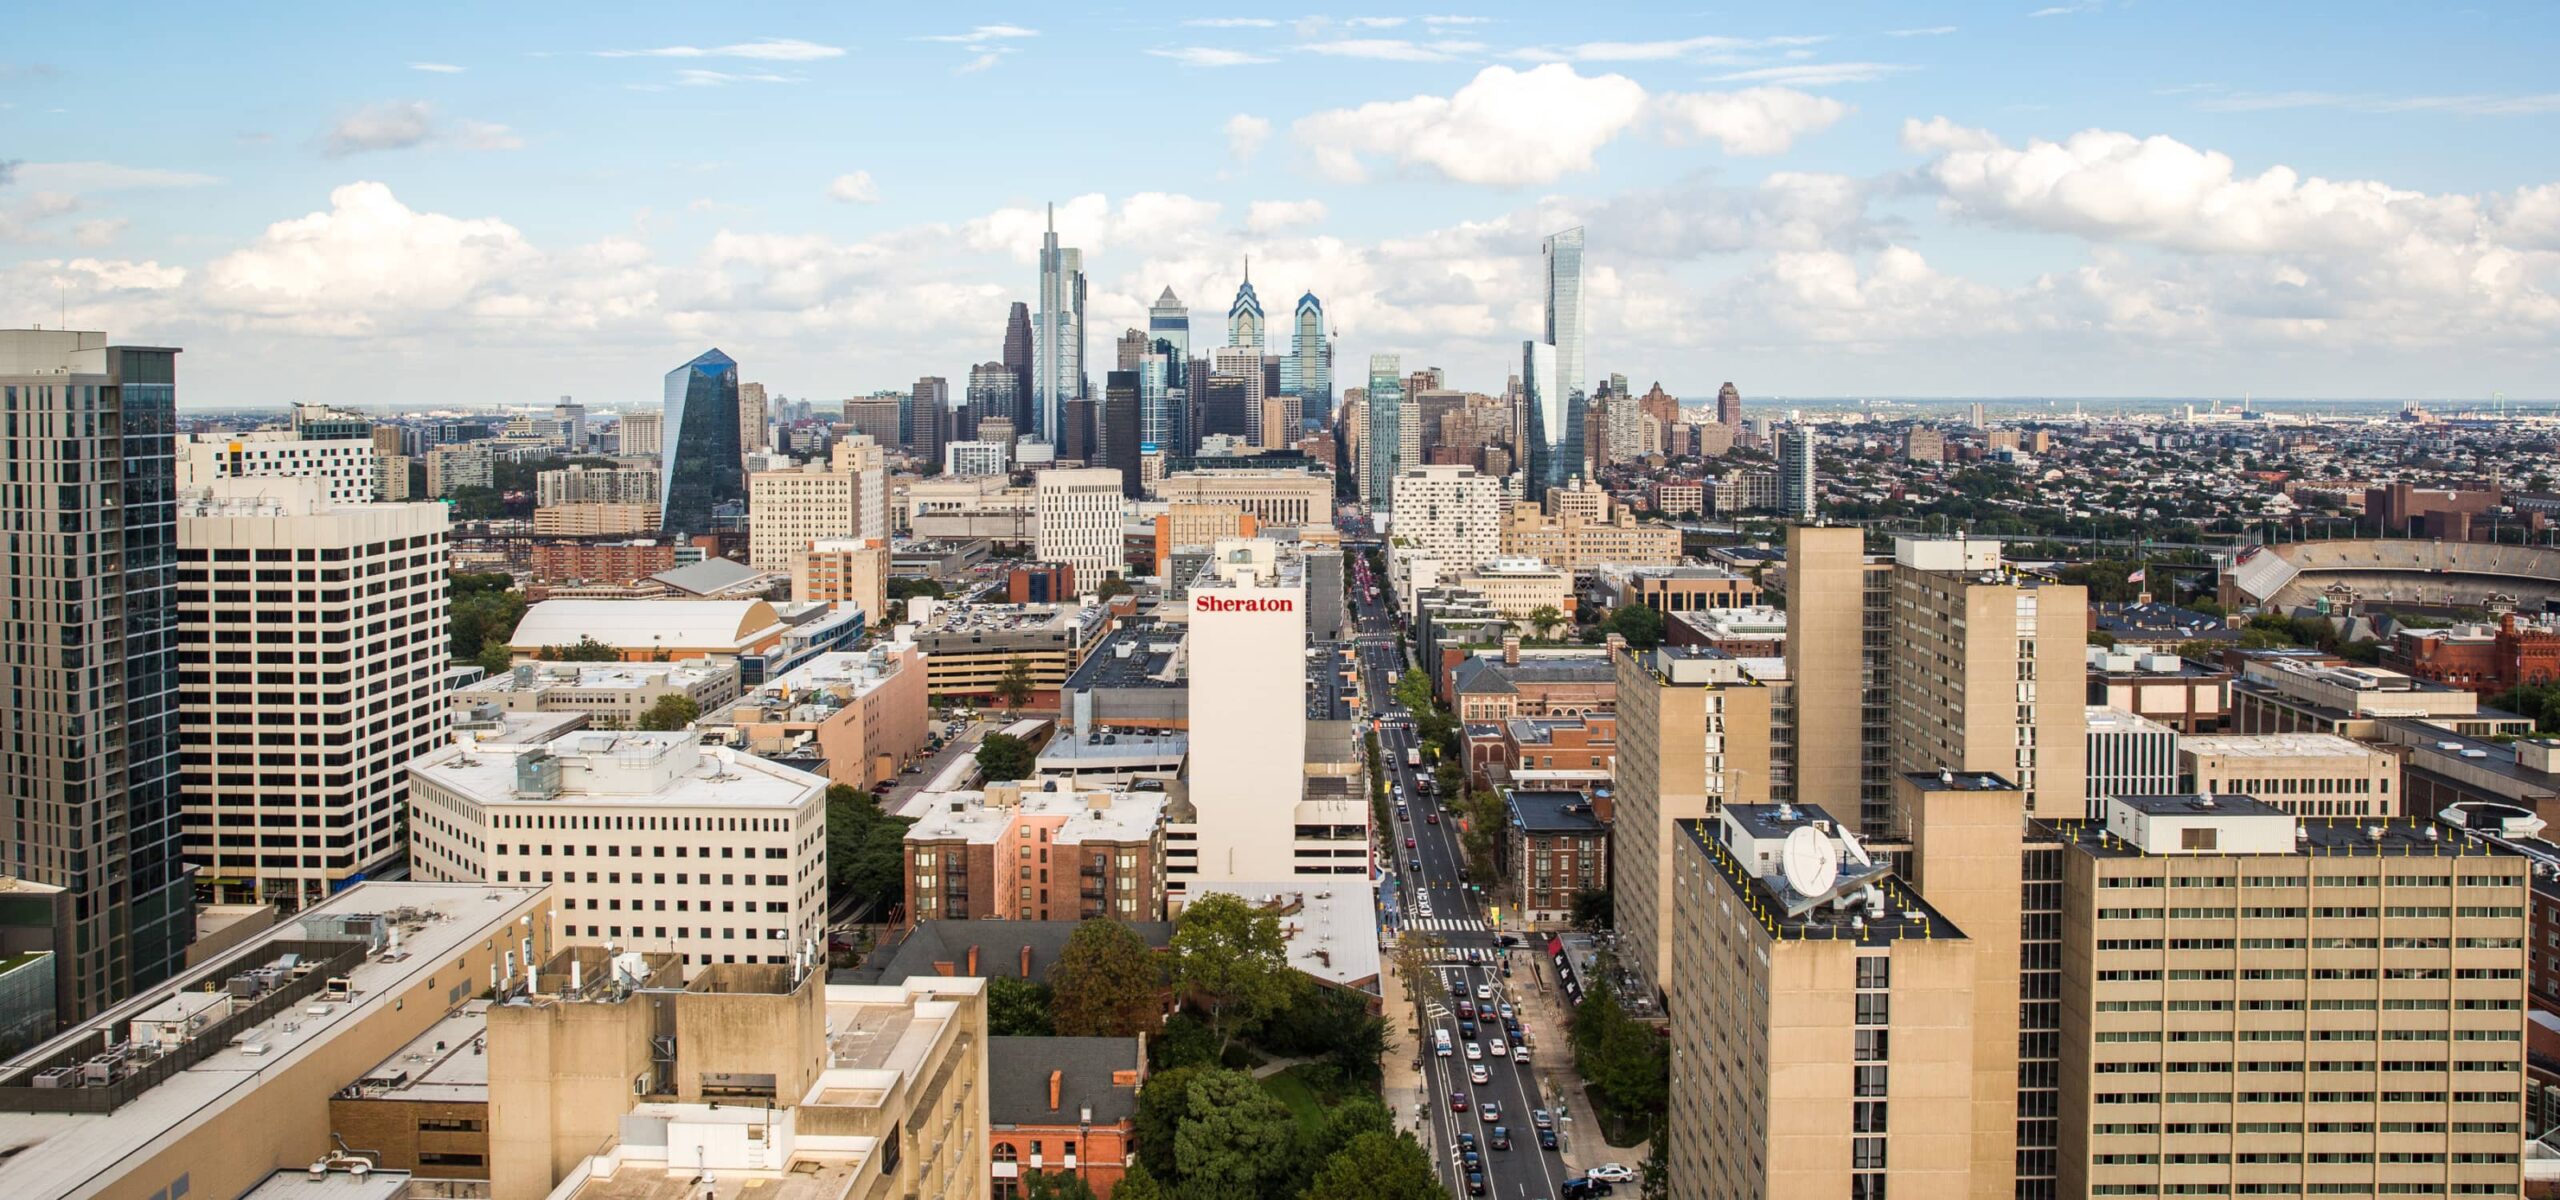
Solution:
{"label": "windowless tan left slab of tallest tower behind the satellite-dish building", "polygon": [[1795,683],[1795,796],[1889,829],[1892,560],[1866,530],[1787,530],[1787,681]]}

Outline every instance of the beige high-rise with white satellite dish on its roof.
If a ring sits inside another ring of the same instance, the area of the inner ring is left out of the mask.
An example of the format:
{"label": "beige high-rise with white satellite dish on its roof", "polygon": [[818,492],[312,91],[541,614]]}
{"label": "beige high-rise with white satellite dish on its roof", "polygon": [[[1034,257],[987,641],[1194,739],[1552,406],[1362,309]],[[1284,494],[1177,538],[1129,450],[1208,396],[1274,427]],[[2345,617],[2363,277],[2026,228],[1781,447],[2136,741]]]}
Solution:
{"label": "beige high-rise with white satellite dish on its roof", "polygon": [[1981,1195],[1971,939],[1820,806],[1728,803],[1669,852],[1672,1195]]}

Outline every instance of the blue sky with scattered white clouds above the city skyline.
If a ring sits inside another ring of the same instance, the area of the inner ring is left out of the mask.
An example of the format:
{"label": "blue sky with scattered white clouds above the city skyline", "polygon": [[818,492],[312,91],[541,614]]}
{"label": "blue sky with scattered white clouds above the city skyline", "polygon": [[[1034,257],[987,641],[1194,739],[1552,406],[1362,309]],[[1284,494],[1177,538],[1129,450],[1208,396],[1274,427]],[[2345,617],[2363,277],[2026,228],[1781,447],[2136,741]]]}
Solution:
{"label": "blue sky with scattered white clouds above the city skyline", "polygon": [[0,325],[187,407],[835,402],[996,358],[1055,202],[1103,363],[1252,256],[1339,381],[1498,391],[1585,225],[1595,381],[1692,402],[2560,397],[2560,5],[20,5]]}

